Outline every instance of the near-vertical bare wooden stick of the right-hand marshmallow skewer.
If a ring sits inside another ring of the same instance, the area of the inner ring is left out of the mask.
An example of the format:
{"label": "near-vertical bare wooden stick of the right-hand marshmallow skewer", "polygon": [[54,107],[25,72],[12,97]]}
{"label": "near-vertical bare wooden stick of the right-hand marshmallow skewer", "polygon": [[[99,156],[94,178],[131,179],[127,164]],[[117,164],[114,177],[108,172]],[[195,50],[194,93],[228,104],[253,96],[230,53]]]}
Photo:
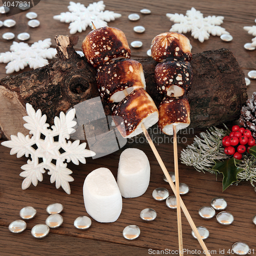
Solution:
{"label": "near-vertical bare wooden stick of the right-hand marshmallow skewer", "polygon": [[174,124],[173,124],[173,131],[174,131],[174,171],[175,171],[175,186],[176,186],[176,206],[177,206],[177,221],[178,221],[179,252],[180,252],[180,255],[183,256],[177,133],[176,133],[176,125],[174,125]]}

